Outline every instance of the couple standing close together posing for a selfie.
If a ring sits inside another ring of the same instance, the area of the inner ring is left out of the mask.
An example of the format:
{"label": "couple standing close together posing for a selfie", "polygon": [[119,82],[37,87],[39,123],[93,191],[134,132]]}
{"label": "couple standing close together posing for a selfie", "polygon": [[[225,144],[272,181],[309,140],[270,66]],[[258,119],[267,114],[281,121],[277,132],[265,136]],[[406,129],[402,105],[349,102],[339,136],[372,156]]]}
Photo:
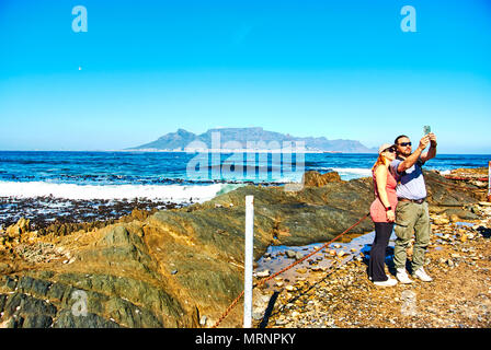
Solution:
{"label": "couple standing close together posing for a selfie", "polygon": [[[427,152],[423,151],[430,144]],[[406,270],[407,249],[414,234],[411,262],[413,278],[430,282],[424,271],[424,255],[430,243],[431,226],[422,165],[436,155],[436,136],[425,135],[418,149],[411,152],[410,139],[401,135],[393,144],[384,143],[373,167],[375,200],[370,206],[375,223],[375,240],[368,262],[368,278],[376,285],[411,283]],[[396,232],[393,262],[396,279],[385,273],[384,262],[389,237]]]}

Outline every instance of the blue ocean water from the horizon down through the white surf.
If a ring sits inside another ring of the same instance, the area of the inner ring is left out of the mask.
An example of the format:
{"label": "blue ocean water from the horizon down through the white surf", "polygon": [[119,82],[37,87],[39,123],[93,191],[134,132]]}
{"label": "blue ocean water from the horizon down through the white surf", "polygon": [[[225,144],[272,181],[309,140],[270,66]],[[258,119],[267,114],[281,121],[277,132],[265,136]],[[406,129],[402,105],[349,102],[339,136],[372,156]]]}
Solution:
{"label": "blue ocean water from the horizon down through the white surf", "polygon": [[[302,170],[335,171],[343,179],[370,176],[376,156],[307,153],[289,161],[271,153],[0,151],[0,197],[204,201],[247,183],[299,182]],[[488,166],[490,160],[482,154],[438,154],[425,167],[448,172]]]}

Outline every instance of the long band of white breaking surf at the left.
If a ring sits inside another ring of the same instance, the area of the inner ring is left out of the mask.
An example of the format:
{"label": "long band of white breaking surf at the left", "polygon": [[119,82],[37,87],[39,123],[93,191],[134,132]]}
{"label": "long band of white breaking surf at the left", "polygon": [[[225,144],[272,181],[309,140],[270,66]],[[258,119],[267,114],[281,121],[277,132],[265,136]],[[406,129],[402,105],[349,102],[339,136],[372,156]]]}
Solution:
{"label": "long band of white breaking surf at the left", "polygon": [[135,199],[203,202],[237,187],[212,185],[76,185],[44,182],[0,182],[0,197],[34,198],[53,196],[65,199]]}

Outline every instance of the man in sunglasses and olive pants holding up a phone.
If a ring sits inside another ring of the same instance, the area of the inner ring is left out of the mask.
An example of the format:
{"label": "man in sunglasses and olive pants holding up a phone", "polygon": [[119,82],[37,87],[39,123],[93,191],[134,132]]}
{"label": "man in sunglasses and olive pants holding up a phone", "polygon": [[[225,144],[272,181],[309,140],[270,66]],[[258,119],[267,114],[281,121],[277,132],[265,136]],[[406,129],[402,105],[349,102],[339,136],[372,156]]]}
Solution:
{"label": "man in sunglasses and olive pants holding up a phone", "polygon": [[[429,143],[430,150],[423,153]],[[422,165],[436,155],[436,136],[432,132],[425,135],[414,152],[412,152],[410,139],[404,135],[399,136],[395,144],[397,158],[390,164],[390,170],[398,182],[396,188],[398,205],[393,229],[397,236],[393,249],[396,277],[401,283],[412,282],[406,271],[406,260],[407,249],[414,234],[412,273],[414,278],[430,282],[433,279],[423,269],[431,226]]]}

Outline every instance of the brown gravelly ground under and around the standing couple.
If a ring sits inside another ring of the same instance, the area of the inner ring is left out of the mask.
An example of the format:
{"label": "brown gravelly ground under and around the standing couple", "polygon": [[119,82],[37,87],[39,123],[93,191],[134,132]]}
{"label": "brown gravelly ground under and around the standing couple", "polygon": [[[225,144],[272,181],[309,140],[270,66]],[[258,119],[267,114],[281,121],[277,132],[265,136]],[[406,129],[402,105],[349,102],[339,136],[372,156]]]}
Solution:
{"label": "brown gravelly ground under and around the standing couple", "polygon": [[[350,261],[341,264],[340,260],[324,271],[306,273],[304,269],[295,280],[277,278],[263,288],[262,293],[270,296],[270,307],[265,317],[255,317],[255,326],[490,327],[491,207],[481,207],[481,218],[470,223],[452,223],[446,218],[432,215],[433,222],[438,223],[432,225],[433,236],[426,254],[425,270],[433,277],[432,282],[414,280],[396,287],[374,285],[366,276],[366,258],[358,253]],[[395,277],[390,258],[386,269]],[[274,307],[271,307],[273,301]],[[256,303],[258,308],[261,306],[265,305]]]}

